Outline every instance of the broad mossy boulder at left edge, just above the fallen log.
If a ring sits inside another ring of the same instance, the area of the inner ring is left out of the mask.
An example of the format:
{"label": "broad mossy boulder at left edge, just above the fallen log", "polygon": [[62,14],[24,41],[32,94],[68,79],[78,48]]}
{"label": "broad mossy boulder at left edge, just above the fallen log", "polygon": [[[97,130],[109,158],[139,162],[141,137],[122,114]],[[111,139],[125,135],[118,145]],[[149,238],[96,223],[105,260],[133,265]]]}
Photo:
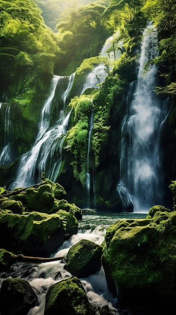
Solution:
{"label": "broad mossy boulder at left edge, just above the fallen log", "polygon": [[27,256],[52,254],[64,241],[64,224],[58,214],[0,212],[0,247]]}

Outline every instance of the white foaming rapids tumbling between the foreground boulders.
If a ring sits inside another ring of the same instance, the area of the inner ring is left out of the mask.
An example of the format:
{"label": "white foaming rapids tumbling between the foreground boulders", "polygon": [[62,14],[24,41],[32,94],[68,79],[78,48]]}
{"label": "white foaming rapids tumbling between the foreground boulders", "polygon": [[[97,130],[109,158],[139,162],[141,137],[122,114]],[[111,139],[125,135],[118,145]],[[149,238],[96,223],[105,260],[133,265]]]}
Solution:
{"label": "white foaming rapids tumbling between the foreground boulders", "polygon": [[[104,241],[105,232],[106,229],[103,226],[96,226],[93,231],[91,229],[85,229],[84,231],[79,230],[77,234],[72,235],[69,240],[65,241],[52,257],[66,257],[69,249],[83,239],[101,245]],[[12,266],[6,277],[18,277],[28,281],[37,295],[37,305],[32,307],[27,315],[44,315],[46,293],[49,287],[63,279],[73,276],[70,272],[64,269],[64,265],[64,260],[58,260],[30,265],[20,262],[15,263]],[[4,274],[0,273],[0,287],[3,280]],[[107,288],[103,268],[93,275],[81,278],[80,281],[91,304],[96,308],[108,305],[110,310],[113,310],[115,314],[118,314],[117,309],[113,306],[116,305],[117,298],[113,297]]]}

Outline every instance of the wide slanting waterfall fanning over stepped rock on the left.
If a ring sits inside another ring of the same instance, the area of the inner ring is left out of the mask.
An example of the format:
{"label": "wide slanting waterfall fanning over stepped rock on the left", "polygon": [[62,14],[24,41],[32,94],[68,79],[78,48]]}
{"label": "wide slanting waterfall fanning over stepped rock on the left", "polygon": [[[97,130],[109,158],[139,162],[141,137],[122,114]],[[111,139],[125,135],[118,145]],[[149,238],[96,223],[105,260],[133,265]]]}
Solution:
{"label": "wide slanting waterfall fanning over stepped rock on the left", "polygon": [[[62,144],[66,136],[70,113],[65,113],[67,98],[73,84],[74,75],[57,76],[52,80],[51,93],[45,102],[39,132],[32,148],[21,156],[16,182],[11,184],[14,187],[27,187],[40,181],[42,172],[47,178],[55,182],[62,163]],[[52,101],[57,86],[61,90],[61,109],[57,110],[56,122],[50,126],[50,114]]]}

